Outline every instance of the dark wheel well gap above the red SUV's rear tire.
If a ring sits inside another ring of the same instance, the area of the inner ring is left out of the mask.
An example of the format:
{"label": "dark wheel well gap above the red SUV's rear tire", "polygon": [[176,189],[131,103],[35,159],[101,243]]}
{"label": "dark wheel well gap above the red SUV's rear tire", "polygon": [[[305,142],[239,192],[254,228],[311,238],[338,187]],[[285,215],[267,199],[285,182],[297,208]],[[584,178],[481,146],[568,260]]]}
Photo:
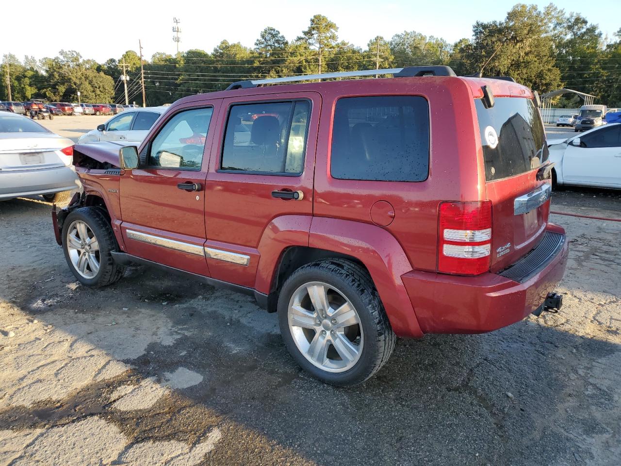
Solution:
{"label": "dark wheel well gap above the red SUV's rear tire", "polygon": [[281,255],[278,266],[276,267],[276,273],[274,273],[274,279],[270,288],[270,295],[268,296],[268,312],[276,312],[276,306],[278,304],[278,292],[282,288],[284,281],[289,275],[295,272],[298,268],[302,267],[302,265],[315,262],[315,260],[327,258],[347,259],[360,265],[360,267],[362,267],[367,273],[369,272],[368,268],[366,268],[364,263],[362,263],[357,258],[347,254],[341,254],[340,252],[306,246],[289,247],[284,250],[283,254]]}

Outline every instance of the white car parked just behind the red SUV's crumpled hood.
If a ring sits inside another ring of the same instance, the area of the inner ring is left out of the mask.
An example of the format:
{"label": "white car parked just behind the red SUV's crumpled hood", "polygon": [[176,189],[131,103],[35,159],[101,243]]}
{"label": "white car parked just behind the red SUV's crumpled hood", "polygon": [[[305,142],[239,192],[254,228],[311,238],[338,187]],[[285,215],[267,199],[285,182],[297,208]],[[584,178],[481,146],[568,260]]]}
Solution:
{"label": "white car parked just behind the red SUV's crumpled hood", "polygon": [[106,123],[97,126],[97,129],[83,134],[78,144],[87,144],[97,141],[126,141],[142,142],[148,131],[157,121],[166,107],[146,107],[125,109]]}

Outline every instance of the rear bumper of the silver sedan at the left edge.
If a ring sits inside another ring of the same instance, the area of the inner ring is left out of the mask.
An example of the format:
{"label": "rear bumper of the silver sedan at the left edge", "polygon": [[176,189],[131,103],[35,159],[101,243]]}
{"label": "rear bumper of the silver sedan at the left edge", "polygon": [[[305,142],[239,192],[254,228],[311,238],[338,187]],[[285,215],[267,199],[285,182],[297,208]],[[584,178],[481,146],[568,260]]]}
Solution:
{"label": "rear bumper of the silver sedan at the left edge", "polygon": [[71,167],[0,171],[0,199],[60,193],[78,186],[78,177]]}

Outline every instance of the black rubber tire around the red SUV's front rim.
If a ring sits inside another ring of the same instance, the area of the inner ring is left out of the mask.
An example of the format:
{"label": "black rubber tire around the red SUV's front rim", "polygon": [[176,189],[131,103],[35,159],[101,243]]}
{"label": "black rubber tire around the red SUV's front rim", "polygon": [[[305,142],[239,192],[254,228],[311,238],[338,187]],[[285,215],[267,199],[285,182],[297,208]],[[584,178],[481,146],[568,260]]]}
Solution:
{"label": "black rubber tire around the red SUV's front rim", "polygon": [[[76,221],[83,221],[93,231],[99,244],[99,271],[93,278],[85,278],[80,275],[75,266],[71,262],[67,248],[67,232],[71,224]],[[65,253],[65,260],[73,275],[78,279],[80,283],[86,286],[99,287],[112,285],[115,281],[120,280],[125,272],[125,267],[118,265],[112,260],[111,252],[119,250],[119,244],[117,244],[110,221],[107,219],[104,212],[96,207],[81,207],[72,211],[65,219],[62,232],[63,252]]]}

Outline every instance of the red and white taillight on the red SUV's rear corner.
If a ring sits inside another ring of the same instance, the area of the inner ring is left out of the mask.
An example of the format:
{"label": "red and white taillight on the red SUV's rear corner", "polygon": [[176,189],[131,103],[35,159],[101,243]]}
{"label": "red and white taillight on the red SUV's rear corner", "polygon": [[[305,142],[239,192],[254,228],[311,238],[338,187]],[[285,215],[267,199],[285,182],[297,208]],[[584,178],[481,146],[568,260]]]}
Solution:
{"label": "red and white taillight on the red SUV's rear corner", "polygon": [[492,203],[440,204],[438,272],[479,275],[489,270],[492,240]]}

